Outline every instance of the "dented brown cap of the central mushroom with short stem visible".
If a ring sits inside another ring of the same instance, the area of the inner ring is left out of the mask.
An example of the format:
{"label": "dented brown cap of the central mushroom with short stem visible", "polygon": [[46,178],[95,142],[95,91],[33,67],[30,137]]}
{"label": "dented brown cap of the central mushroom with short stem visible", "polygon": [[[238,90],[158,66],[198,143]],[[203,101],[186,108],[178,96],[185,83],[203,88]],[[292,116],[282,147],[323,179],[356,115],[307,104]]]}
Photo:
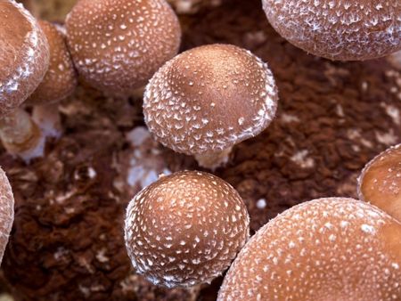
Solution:
{"label": "dented brown cap of the central mushroom with short stem visible", "polygon": [[143,99],[155,138],[187,155],[213,153],[262,132],[278,93],[266,63],[234,45],[205,45],[168,61]]}

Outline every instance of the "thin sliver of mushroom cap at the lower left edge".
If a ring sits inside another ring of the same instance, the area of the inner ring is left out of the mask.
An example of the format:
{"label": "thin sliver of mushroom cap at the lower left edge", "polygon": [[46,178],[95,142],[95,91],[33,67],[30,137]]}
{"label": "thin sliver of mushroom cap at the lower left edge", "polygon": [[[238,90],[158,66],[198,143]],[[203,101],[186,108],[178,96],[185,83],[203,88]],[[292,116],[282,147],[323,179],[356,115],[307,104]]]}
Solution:
{"label": "thin sliver of mushroom cap at the lower left edge", "polygon": [[5,246],[12,231],[14,220],[14,197],[12,187],[2,168],[0,168],[0,264],[3,260]]}

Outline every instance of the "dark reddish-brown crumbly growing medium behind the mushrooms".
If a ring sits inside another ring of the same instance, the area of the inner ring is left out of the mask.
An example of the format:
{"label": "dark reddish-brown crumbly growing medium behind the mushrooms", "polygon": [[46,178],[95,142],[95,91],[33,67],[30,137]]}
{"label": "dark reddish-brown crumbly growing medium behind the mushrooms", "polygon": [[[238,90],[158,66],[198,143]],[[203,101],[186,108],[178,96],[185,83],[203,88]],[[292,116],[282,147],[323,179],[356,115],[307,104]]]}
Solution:
{"label": "dark reddish-brown crumbly growing medium behind the mushrooms", "polygon": [[[182,22],[183,49],[217,42],[247,48],[269,62],[279,88],[272,124],[235,147],[230,165],[217,170],[245,200],[251,230],[301,201],[355,198],[365,163],[401,142],[401,77],[385,60],[339,63],[307,55],[275,33],[258,0],[233,0]],[[61,106],[65,135],[48,144],[45,159],[26,167],[2,152],[17,204],[3,267],[16,296],[71,300],[85,292],[92,300],[190,300],[184,290],[127,276],[122,225],[133,194],[117,190],[113,181],[124,174],[119,163],[132,152],[124,134],[143,123],[130,103],[80,87]],[[172,171],[196,168],[192,159],[159,151]],[[96,170],[93,179],[86,176],[88,167]],[[61,203],[55,200],[60,196]],[[109,261],[102,262],[102,248]],[[202,300],[216,300],[218,286],[216,281],[201,291]]]}

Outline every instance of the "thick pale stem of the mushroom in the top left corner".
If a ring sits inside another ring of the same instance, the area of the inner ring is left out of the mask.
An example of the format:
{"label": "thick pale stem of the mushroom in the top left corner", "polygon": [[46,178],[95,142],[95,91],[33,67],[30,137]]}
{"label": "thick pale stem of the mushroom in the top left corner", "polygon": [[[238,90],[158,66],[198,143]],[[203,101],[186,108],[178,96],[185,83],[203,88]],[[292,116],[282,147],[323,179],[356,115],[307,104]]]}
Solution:
{"label": "thick pale stem of the mushroom in the top left corner", "polygon": [[29,114],[20,108],[0,118],[0,139],[9,153],[26,161],[43,156],[45,138]]}

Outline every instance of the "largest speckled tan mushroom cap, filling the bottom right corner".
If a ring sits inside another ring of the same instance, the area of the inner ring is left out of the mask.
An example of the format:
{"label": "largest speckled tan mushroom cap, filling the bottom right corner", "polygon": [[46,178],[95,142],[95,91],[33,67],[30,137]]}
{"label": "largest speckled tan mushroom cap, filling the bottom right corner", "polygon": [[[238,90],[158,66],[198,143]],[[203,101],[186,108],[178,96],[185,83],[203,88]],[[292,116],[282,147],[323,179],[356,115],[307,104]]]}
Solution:
{"label": "largest speckled tan mushroom cap, filling the bottom right corner", "polygon": [[241,249],[217,300],[400,300],[401,224],[355,199],[285,211]]}

